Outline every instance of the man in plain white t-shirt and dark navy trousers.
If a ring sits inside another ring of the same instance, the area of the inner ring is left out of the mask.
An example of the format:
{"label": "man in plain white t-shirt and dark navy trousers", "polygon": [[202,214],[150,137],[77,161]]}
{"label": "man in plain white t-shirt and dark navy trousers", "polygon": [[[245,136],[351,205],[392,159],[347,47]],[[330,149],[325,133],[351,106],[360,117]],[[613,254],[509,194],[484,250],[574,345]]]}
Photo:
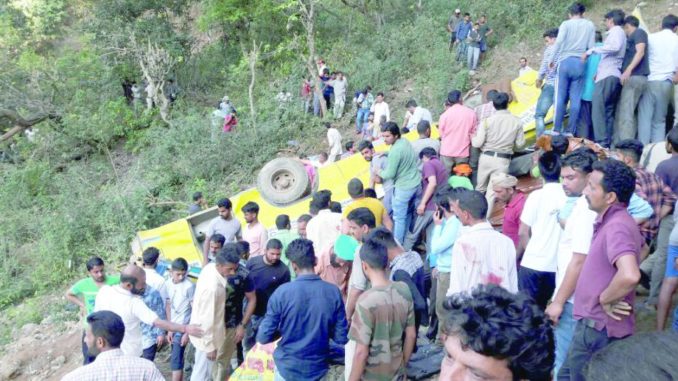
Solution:
{"label": "man in plain white t-shirt and dark navy trousers", "polygon": [[527,197],[520,215],[518,256],[522,255],[522,260],[518,285],[520,291],[545,309],[556,286],[556,253],[562,232],[558,210],[565,204],[566,196],[559,183],[560,157],[557,153],[542,154],[539,170],[546,184]]}

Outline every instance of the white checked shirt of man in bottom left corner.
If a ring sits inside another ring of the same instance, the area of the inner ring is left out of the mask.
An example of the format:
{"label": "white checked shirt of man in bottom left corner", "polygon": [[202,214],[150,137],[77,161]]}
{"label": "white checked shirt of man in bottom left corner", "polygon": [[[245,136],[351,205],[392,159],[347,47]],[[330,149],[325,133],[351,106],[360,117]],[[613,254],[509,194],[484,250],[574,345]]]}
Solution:
{"label": "white checked shirt of man in bottom left corner", "polygon": [[119,348],[99,353],[96,360],[67,374],[61,381],[164,381],[145,359],[125,356]]}

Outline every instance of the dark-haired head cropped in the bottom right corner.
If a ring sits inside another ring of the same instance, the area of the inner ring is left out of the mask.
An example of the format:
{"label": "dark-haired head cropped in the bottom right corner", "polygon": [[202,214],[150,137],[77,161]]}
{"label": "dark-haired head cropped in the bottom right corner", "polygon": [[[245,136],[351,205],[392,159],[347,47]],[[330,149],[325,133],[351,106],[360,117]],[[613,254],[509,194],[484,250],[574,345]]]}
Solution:
{"label": "dark-haired head cropped in the bottom right corner", "polygon": [[596,352],[584,373],[596,381],[672,381],[678,379],[676,353],[678,333],[638,333]]}

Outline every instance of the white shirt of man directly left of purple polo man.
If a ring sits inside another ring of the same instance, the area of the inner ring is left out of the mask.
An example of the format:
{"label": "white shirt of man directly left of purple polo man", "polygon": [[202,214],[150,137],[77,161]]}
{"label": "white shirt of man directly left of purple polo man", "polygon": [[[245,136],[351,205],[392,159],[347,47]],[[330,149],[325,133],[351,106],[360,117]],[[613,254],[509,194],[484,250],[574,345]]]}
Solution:
{"label": "white shirt of man directly left of purple polo man", "polygon": [[[593,223],[596,221],[596,212],[589,209],[589,203],[586,197],[581,196],[575,201],[572,212],[567,218],[565,229],[560,235],[558,244],[558,268],[556,269],[556,289],[553,296],[558,293],[558,289],[565,280],[567,266],[572,260],[572,253],[588,255],[593,238]],[[568,299],[568,302],[574,304],[574,293]]]}

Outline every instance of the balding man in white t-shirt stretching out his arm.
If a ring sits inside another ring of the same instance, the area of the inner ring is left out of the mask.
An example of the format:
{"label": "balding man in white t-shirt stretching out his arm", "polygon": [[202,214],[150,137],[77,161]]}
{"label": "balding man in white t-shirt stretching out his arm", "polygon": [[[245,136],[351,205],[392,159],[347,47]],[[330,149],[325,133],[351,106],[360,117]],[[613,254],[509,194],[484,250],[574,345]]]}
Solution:
{"label": "balding man in white t-shirt stretching out his arm", "polygon": [[158,318],[141,298],[146,288],[146,273],[136,265],[128,265],[120,273],[120,284],[104,286],[97,294],[95,311],[112,311],[125,323],[125,338],[120,349],[128,356],[141,356],[143,351],[141,322],[165,331],[182,332],[202,337],[203,330],[196,325],[174,324]]}

